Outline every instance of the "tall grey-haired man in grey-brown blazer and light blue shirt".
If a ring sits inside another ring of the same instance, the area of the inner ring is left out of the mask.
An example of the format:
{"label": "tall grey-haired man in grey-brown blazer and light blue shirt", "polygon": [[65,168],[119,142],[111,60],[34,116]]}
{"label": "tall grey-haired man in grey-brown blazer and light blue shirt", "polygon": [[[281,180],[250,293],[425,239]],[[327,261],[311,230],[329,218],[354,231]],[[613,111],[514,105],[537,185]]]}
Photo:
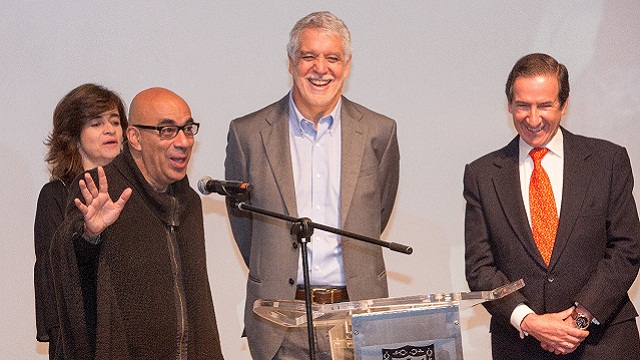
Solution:
{"label": "tall grey-haired man in grey-brown blazer and light blue shirt", "polygon": [[[351,40],[344,23],[312,13],[291,30],[291,92],[233,120],[225,176],[249,181],[250,203],[377,238],[393,208],[399,176],[395,121],[342,96]],[[308,358],[306,328],[284,329],[252,311],[257,299],[303,299],[297,239],[290,224],[229,209],[233,235],[249,268],[245,332],[254,359]],[[388,296],[379,246],[316,230],[310,279],[318,303]],[[330,359],[318,331],[319,359]]]}

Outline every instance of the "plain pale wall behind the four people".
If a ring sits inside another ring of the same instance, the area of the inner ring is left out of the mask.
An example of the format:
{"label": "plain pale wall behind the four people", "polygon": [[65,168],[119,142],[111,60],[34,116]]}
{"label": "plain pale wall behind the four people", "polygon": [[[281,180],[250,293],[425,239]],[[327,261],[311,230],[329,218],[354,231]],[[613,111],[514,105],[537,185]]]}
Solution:
{"label": "plain pale wall behind the four people", "polygon": [[[43,140],[58,100],[97,82],[127,103],[163,86],[202,123],[189,177],[223,177],[228,122],[290,87],[285,45],[295,21],[330,10],[353,37],[345,94],[399,124],[401,183],[385,239],[392,296],[467,290],[464,165],[515,131],[504,83],[518,58],[546,52],[569,68],[564,125],[627,147],[640,177],[640,3],[636,1],[0,1],[0,347],[46,358],[35,341],[33,218],[47,181]],[[635,190],[638,198],[639,190]],[[203,198],[208,266],[223,351],[240,339],[246,269],[223,198]],[[640,291],[631,290],[640,305]],[[468,359],[489,359],[489,317],[461,312]]]}

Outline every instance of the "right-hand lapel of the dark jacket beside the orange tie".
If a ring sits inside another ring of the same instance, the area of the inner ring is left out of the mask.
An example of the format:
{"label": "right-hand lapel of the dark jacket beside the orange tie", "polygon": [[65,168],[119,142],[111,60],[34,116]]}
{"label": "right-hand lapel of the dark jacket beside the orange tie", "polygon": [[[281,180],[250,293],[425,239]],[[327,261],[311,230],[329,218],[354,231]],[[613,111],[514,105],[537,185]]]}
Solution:
{"label": "right-hand lapel of the dark jacket beside the orange tie", "polygon": [[565,129],[562,129],[562,135],[564,138],[562,206],[560,207],[558,232],[553,246],[550,267],[553,267],[562,256],[569,241],[582,209],[592,171],[589,166],[585,166],[585,161],[591,152],[576,142],[576,137]]}

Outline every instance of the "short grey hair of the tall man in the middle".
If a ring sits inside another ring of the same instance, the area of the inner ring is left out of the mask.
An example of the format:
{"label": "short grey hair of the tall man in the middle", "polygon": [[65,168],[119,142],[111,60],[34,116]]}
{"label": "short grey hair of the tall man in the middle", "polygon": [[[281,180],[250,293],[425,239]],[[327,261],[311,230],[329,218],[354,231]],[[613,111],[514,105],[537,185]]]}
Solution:
{"label": "short grey hair of the tall man in the middle", "polygon": [[339,35],[342,38],[342,50],[344,51],[345,60],[351,58],[351,34],[347,25],[332,13],[319,11],[298,20],[293,29],[291,29],[289,43],[287,44],[287,53],[291,59],[295,58],[296,52],[300,49],[300,34],[306,29],[317,29]]}

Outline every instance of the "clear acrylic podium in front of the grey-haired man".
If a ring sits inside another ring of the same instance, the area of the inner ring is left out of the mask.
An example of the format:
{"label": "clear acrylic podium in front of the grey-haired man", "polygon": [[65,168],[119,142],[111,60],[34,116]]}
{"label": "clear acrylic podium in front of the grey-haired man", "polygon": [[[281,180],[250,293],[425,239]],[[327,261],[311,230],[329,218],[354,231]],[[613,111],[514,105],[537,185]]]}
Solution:
{"label": "clear acrylic podium in front of the grey-haired man", "polygon": [[[463,359],[459,310],[523,286],[518,280],[490,291],[312,304],[311,315],[314,327],[330,328],[335,360]],[[301,300],[257,300],[253,311],[280,326],[306,327]]]}

